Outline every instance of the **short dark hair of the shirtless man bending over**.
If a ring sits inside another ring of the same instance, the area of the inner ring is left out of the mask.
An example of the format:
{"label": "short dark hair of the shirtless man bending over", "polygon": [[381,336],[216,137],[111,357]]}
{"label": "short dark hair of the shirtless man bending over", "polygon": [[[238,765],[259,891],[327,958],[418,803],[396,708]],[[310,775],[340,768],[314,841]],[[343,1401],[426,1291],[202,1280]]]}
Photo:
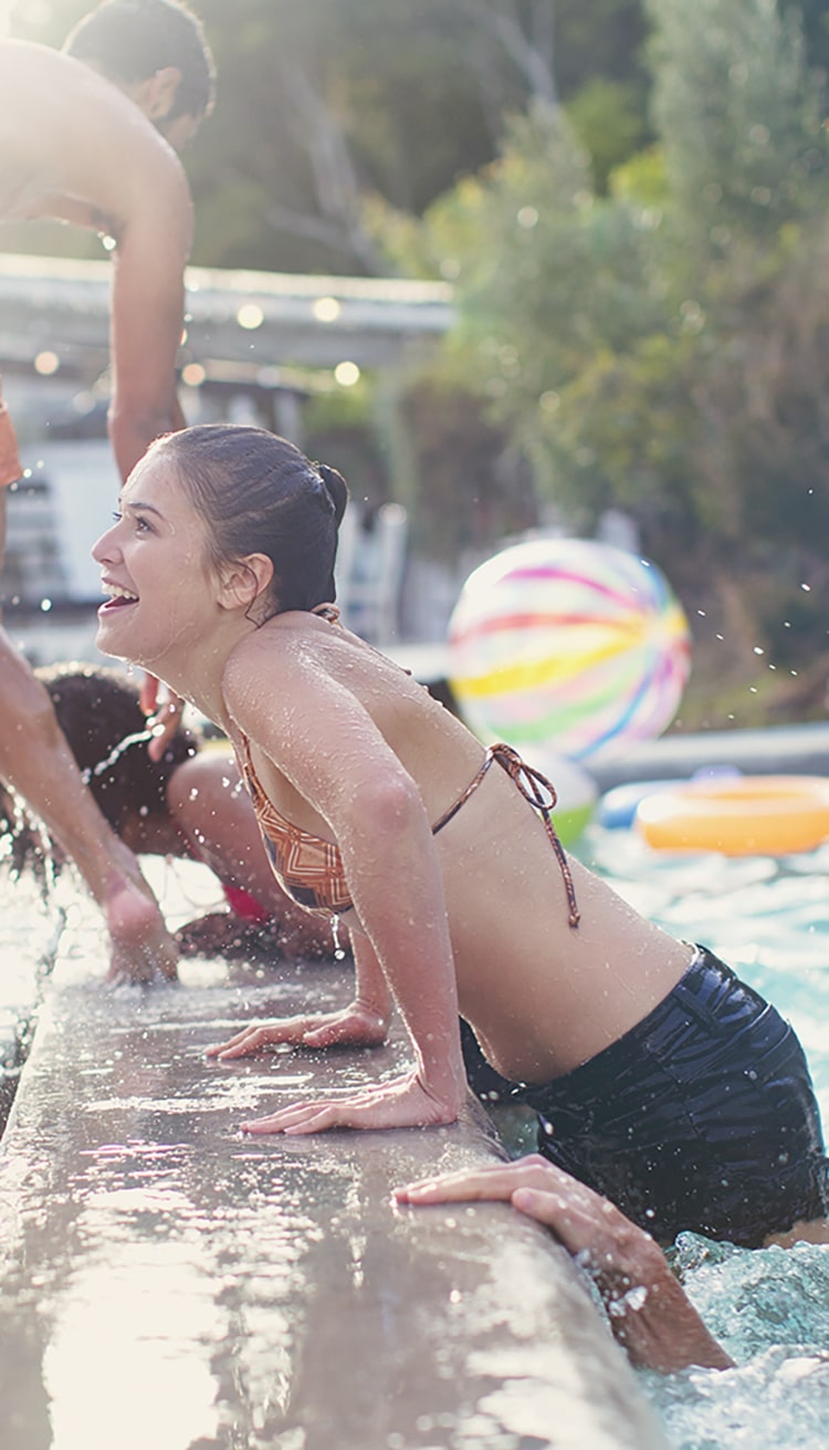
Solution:
{"label": "short dark hair of the shirtless man bending over", "polygon": [[174,65],[181,80],[165,123],[201,119],[213,106],[213,57],[201,22],[180,0],[101,0],[70,32],[64,51],[125,86]]}

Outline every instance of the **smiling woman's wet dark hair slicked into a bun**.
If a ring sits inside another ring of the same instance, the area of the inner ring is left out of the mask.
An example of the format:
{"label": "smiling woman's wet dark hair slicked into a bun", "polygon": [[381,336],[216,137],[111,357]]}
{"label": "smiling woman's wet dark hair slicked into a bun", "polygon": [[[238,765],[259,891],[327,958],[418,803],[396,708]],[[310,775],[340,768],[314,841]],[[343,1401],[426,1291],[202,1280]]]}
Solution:
{"label": "smiling woman's wet dark hair slicked into a bun", "polygon": [[264,428],[203,423],[152,445],[175,465],[212,534],[216,567],[265,554],[272,583],[257,621],[333,603],[338,529],[348,486],[336,468],[312,463]]}

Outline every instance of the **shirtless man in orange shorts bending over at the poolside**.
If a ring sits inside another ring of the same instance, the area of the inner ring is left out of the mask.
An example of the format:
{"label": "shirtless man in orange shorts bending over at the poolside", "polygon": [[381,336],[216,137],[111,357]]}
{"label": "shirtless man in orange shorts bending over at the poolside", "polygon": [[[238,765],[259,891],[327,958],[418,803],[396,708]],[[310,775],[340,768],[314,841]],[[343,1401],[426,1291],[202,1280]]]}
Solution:
{"label": "shirtless man in orange shorts bending over at the poolside", "polygon": [[[0,219],[57,218],[116,241],[109,434],[126,478],[158,434],[184,425],[175,354],[193,216],[177,149],[213,104],[212,57],[178,0],[104,0],[62,52],[0,41]],[[0,399],[0,561],[3,484],[20,473]],[[84,787],[46,690],[1,628],[0,777],[61,841],[101,908],[110,977],[174,977],[177,948],[138,861]]]}

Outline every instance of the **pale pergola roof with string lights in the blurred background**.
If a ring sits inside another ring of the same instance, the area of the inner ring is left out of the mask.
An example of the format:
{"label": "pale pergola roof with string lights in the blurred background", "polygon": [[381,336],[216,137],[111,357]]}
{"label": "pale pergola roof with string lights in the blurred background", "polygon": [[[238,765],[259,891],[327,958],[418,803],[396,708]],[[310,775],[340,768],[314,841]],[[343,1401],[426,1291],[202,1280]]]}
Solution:
{"label": "pale pergola roof with string lights in the blurred background", "polygon": [[[0,255],[0,371],[59,371],[93,381],[107,365],[112,268],[107,261]],[[445,283],[187,271],[187,376],[280,387],[290,370],[387,368],[441,336],[452,316]],[[287,374],[286,374],[286,370]]]}

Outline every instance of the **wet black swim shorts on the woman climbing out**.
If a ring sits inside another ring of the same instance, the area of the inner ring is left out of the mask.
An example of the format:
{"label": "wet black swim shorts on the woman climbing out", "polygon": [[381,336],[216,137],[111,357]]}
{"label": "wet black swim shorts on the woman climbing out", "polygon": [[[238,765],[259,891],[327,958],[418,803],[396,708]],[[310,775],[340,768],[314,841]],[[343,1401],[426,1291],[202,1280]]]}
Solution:
{"label": "wet black swim shorts on the woman climbing out", "polygon": [[829,1214],[803,1048],[704,947],[632,1031],[520,1101],[539,1115],[539,1153],[659,1243],[694,1230],[754,1248]]}

